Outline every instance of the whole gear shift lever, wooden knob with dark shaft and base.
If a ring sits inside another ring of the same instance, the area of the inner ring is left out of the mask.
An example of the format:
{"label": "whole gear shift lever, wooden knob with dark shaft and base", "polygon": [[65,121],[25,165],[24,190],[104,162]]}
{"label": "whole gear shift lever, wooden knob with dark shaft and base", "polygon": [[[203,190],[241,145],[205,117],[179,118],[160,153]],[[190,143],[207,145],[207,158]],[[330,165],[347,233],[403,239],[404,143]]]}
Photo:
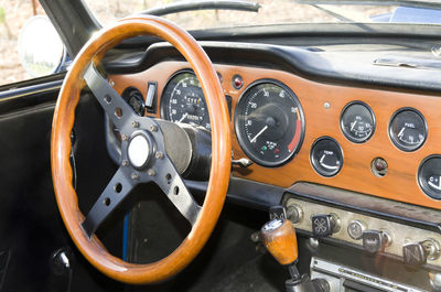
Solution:
{"label": "whole gear shift lever, wooden knob with dark shaft and base", "polygon": [[298,262],[298,245],[295,229],[291,221],[286,219],[273,219],[262,226],[260,238],[275,259],[282,266],[288,267],[291,279],[284,285],[287,292],[326,292],[330,291],[329,283],[323,280],[311,281],[308,274],[300,275],[295,266]]}

